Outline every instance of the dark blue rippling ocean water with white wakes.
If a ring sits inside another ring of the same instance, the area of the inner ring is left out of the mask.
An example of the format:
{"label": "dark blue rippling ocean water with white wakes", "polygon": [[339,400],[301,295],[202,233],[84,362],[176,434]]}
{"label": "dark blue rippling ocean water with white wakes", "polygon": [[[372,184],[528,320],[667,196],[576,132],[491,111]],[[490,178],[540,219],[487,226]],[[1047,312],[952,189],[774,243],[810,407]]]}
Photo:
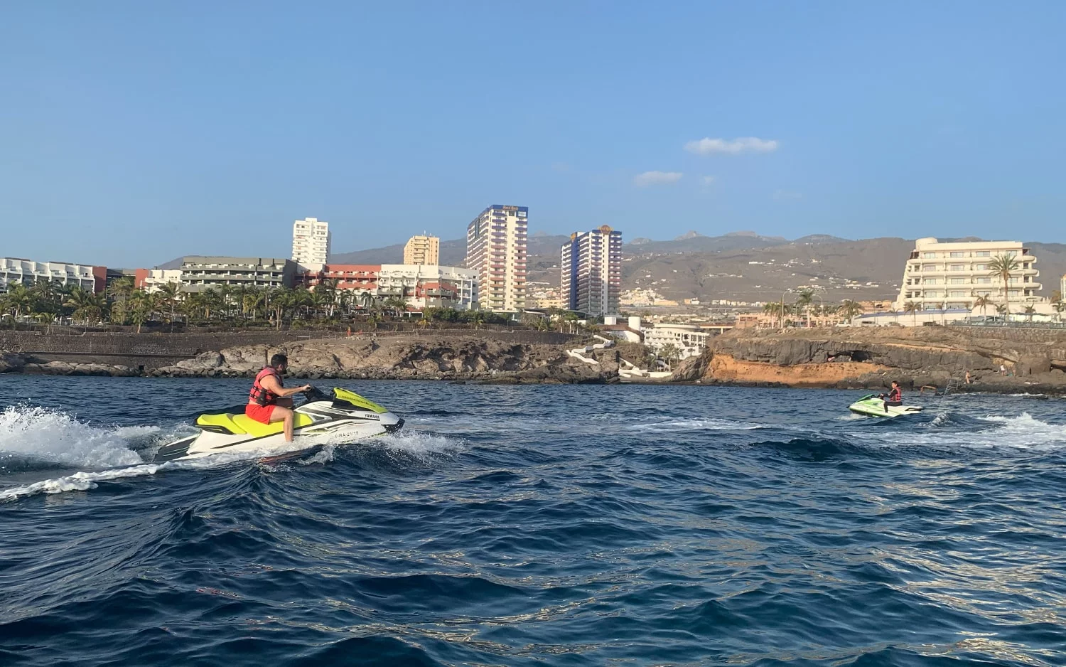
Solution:
{"label": "dark blue rippling ocean water with white wakes", "polygon": [[1066,664],[1066,401],[345,382],[404,431],[150,463],[245,384],[0,376],[0,665]]}

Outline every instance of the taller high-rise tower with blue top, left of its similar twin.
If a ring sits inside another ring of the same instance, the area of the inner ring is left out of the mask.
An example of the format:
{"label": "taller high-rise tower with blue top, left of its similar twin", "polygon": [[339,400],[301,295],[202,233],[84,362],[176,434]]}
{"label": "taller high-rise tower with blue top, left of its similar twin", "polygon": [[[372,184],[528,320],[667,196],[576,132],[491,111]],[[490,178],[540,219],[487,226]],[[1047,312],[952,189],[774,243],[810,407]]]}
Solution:
{"label": "taller high-rise tower with blue top, left of its similar twin", "polygon": [[494,204],[467,226],[466,268],[478,271],[482,308],[526,307],[526,237],[529,208]]}

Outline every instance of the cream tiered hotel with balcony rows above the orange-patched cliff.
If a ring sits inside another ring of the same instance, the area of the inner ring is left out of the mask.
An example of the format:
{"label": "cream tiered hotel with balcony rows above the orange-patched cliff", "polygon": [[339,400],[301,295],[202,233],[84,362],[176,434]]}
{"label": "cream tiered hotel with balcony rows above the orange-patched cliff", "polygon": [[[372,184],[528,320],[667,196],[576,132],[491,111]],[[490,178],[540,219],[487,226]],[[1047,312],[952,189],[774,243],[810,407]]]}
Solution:
{"label": "cream tiered hotel with balcony rows above the orange-patched cliff", "polygon": [[[999,256],[1014,257],[1018,263],[1008,285],[991,275],[989,265]],[[1036,257],[1020,241],[941,243],[935,238],[922,238],[915,242],[907,259],[893,307],[902,311],[912,301],[921,309],[972,311],[973,302],[982,296],[1002,304],[1005,290],[1011,311],[1016,313],[1014,304],[1021,306],[1040,300],[1036,293],[1040,289],[1036,282],[1039,275]]]}

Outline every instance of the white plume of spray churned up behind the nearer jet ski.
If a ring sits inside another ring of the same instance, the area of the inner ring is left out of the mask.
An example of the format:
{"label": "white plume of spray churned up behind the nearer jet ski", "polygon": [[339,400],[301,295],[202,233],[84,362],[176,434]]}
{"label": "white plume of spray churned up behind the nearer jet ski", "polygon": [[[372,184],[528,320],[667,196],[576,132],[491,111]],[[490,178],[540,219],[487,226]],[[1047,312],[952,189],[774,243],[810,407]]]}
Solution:
{"label": "white plume of spray churned up behind the nearer jet ski", "polygon": [[97,428],[65,412],[12,406],[0,412],[0,454],[82,467],[143,463],[129,448],[132,438],[159,432],[156,427]]}

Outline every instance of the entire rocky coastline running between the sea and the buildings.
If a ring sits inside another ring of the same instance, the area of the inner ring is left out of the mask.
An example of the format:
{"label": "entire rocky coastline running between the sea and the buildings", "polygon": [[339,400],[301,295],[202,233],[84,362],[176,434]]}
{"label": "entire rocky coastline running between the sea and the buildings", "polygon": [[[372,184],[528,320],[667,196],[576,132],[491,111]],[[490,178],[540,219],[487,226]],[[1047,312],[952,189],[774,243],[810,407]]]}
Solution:
{"label": "entire rocky coastline running between the sea and the buildings", "polygon": [[[274,352],[290,356],[290,376],[307,380],[434,380],[495,384],[633,383],[882,391],[892,380],[916,395],[943,393],[1066,396],[1066,332],[975,328],[739,330],[715,336],[671,378],[619,378],[632,344],[572,355],[577,336],[490,331],[360,334],[319,339],[270,334],[216,336],[220,349],[193,353],[190,337],[150,334],[101,351],[0,352],[0,372],[154,378],[251,378]],[[62,343],[71,337],[58,336]],[[130,342],[136,345],[131,345]],[[225,343],[238,345],[222,347]],[[0,340],[2,343],[2,340]],[[203,343],[201,343],[203,345]],[[136,366],[111,363],[128,354]],[[1001,375],[1000,368],[1010,375]],[[971,382],[966,383],[966,375]]]}

